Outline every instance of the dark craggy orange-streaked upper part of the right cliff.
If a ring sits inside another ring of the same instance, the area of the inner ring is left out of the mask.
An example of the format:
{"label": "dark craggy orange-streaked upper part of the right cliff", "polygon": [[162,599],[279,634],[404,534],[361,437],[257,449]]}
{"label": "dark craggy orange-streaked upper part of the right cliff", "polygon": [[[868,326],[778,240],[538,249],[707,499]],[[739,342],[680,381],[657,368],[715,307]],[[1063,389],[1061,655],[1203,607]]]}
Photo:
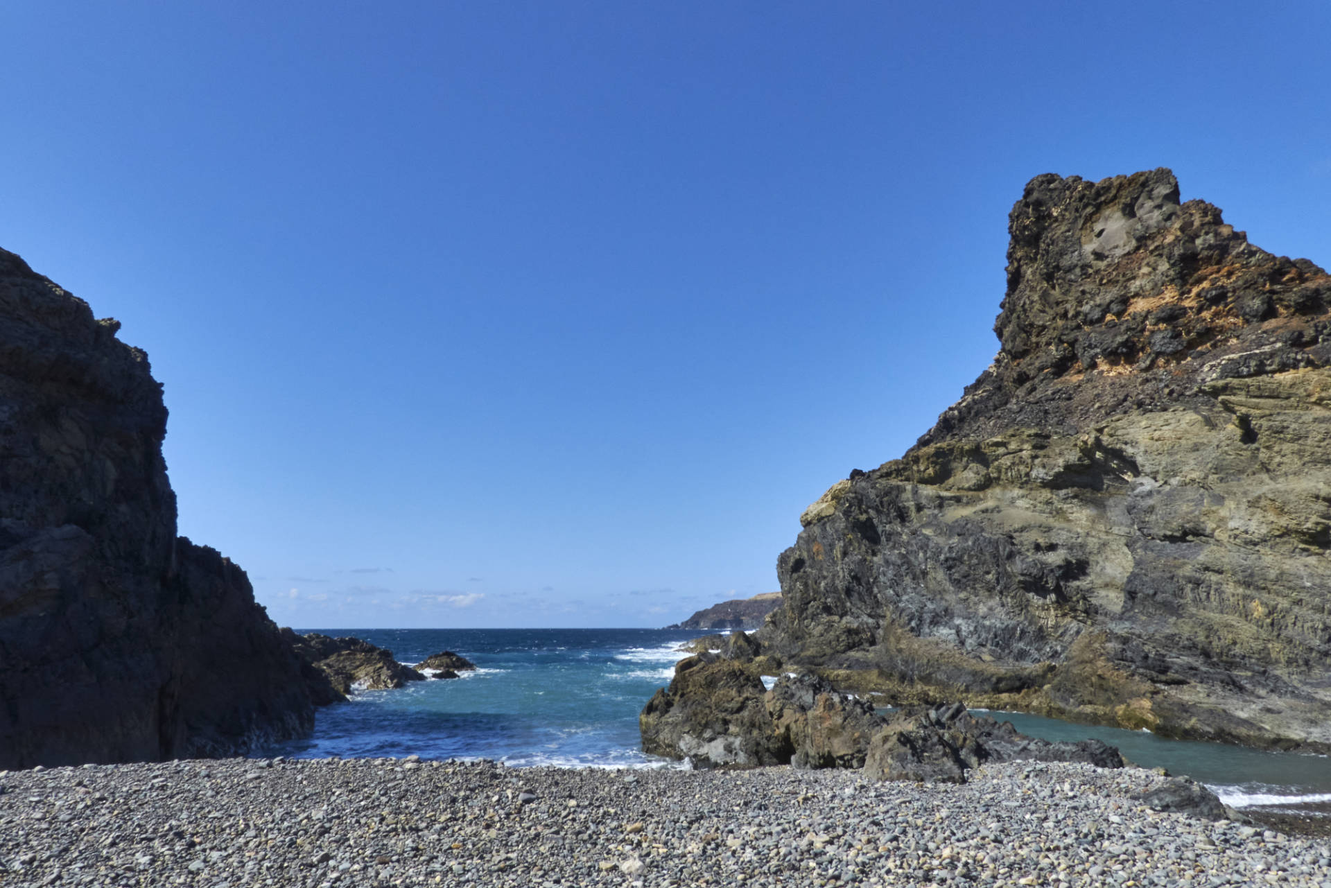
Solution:
{"label": "dark craggy orange-streaked upper part of the right cliff", "polygon": [[[921,445],[990,418],[968,433],[1073,431],[1187,398],[1209,379],[1251,375],[1243,358],[1226,358],[1258,349],[1279,353],[1260,358],[1258,373],[1331,363],[1322,320],[1331,277],[1248,244],[1211,204],[1181,204],[1169,169],[1098,182],[1037,176],[1008,230],[998,355]],[[1050,415],[1040,403],[1053,401],[1069,403]]]}

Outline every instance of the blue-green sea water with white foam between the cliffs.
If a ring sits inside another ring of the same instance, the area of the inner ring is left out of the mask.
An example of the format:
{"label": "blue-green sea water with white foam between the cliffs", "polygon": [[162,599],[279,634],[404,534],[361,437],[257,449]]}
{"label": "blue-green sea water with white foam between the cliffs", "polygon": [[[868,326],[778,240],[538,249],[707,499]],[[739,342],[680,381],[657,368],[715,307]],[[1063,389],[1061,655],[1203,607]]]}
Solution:
{"label": "blue-green sea water with white foam between the cliffs", "polygon": [[[265,752],[293,758],[494,759],[512,767],[680,767],[643,755],[638,714],[669,683],[680,643],[671,630],[299,630],[354,635],[402,663],[455,651],[476,664],[458,679],[363,691],[319,710],[313,736]],[[1235,807],[1331,803],[1331,759],[1165,740],[1146,731],[998,714],[1049,740],[1099,738],[1143,767],[1214,788]]]}

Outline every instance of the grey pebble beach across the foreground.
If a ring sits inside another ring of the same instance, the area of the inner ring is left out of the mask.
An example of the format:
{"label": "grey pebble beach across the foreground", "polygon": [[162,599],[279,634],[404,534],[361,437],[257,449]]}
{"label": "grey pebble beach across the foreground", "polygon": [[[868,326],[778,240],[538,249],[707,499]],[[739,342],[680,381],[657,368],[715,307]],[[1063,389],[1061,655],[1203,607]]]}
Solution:
{"label": "grey pebble beach across the foreground", "polygon": [[0,772],[0,883],[1331,885],[1331,843],[1161,813],[1138,768],[182,760]]}

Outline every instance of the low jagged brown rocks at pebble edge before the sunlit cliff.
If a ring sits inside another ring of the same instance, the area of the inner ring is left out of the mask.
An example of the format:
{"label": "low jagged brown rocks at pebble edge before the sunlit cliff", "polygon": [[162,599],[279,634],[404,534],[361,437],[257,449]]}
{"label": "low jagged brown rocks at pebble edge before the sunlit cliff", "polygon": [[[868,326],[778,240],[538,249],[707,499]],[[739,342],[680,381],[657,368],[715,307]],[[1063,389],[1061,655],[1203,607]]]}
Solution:
{"label": "low jagged brown rocks at pebble edge before the sunlit cliff", "polygon": [[680,660],[668,688],[639,716],[643,751],[700,767],[860,768],[881,780],[964,783],[986,762],[1081,762],[1122,767],[1098,740],[1050,743],[958,704],[901,712],[839,694],[813,675],[787,675],[768,691],[740,660],[712,652]]}

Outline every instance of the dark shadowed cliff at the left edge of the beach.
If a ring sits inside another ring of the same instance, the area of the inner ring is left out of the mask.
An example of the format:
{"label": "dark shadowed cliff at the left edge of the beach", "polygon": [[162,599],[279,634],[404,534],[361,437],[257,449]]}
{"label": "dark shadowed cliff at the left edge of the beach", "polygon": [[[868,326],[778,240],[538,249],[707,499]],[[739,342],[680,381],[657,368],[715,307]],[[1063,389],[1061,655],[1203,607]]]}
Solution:
{"label": "dark shadowed cliff at the left edge of the beach", "polygon": [[161,386],[118,328],[0,250],[0,768],[313,724],[245,571],[176,535]]}

